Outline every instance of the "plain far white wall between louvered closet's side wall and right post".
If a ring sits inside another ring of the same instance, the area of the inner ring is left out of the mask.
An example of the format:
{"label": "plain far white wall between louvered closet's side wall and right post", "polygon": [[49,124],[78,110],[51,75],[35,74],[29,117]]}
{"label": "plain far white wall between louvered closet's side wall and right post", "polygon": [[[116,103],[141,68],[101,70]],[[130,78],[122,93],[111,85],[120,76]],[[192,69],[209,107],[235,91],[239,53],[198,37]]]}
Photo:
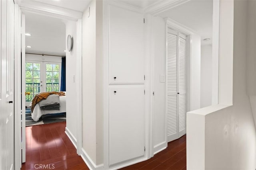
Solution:
{"label": "plain far white wall between louvered closet's side wall and right post", "polygon": [[212,105],[212,45],[201,46],[200,108]]}

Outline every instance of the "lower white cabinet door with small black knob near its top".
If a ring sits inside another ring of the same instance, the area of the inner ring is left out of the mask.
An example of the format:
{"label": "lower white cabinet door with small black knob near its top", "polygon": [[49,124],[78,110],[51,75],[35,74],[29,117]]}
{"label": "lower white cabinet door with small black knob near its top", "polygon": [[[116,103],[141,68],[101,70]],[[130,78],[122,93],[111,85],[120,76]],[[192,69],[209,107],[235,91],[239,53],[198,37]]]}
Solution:
{"label": "lower white cabinet door with small black knob near its top", "polygon": [[144,85],[109,88],[109,164],[144,155]]}

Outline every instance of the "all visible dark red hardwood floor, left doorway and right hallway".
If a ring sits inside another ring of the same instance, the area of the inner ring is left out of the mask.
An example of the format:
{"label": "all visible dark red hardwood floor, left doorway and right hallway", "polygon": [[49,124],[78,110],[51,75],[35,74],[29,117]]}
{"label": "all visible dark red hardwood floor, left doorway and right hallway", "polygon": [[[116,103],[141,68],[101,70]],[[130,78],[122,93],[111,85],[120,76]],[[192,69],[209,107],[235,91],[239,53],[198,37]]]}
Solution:
{"label": "all visible dark red hardwood floor, left doorway and right hallway", "polygon": [[[44,164],[48,166],[44,169],[88,170],[65,134],[65,127],[66,122],[26,127],[26,162],[21,169],[36,170]],[[122,169],[186,170],[186,135],[168,143],[167,149],[151,159]]]}

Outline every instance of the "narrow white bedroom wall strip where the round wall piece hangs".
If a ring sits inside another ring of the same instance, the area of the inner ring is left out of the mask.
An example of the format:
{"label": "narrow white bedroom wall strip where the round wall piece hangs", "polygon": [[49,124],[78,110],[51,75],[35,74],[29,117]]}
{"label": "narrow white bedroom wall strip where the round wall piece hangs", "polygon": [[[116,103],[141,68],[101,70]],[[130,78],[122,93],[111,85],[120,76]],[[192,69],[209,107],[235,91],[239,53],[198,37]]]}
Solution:
{"label": "narrow white bedroom wall strip where the round wall piece hangs", "polygon": [[77,80],[76,80],[76,57],[77,56],[77,37],[76,37],[76,22],[66,22],[66,39],[68,35],[73,37],[72,51],[66,50],[66,131],[69,131],[70,136],[74,139],[76,145],[77,139]]}

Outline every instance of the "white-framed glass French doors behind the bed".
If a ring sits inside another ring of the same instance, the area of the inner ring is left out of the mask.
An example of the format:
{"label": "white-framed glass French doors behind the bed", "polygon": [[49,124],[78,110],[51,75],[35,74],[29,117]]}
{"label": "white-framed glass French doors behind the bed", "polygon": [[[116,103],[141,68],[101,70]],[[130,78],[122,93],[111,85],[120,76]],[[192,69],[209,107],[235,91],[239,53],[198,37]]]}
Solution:
{"label": "white-framed glass French doors behind the bed", "polygon": [[60,91],[61,63],[26,61],[26,106],[40,92]]}

